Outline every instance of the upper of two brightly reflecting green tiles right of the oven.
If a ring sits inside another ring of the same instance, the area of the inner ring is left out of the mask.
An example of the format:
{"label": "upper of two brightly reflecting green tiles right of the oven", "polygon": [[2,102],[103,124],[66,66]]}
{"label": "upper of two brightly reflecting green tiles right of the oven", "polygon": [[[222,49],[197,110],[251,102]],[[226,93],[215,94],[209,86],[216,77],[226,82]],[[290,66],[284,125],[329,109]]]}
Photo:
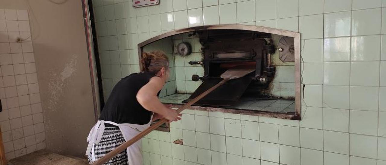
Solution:
{"label": "upper of two brightly reflecting green tiles right of the oven", "polygon": [[328,13],[324,15],[324,37],[349,36],[350,28],[351,12]]}

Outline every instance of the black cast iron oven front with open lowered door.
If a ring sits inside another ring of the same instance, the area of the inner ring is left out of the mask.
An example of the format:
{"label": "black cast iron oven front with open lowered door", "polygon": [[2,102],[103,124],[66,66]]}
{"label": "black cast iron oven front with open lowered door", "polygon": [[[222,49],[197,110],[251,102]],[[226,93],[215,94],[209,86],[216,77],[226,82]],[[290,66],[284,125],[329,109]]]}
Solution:
{"label": "black cast iron oven front with open lowered door", "polygon": [[237,103],[243,94],[258,97],[259,90],[268,87],[275,74],[275,67],[267,60],[269,54],[275,51],[274,45],[271,44],[271,34],[247,30],[204,30],[198,34],[203,45],[201,50],[204,76],[193,75],[192,79],[201,79],[203,83],[183,103],[189,102],[220,82],[223,72],[238,65],[254,66],[256,71],[229,81],[193,105],[231,106]]}

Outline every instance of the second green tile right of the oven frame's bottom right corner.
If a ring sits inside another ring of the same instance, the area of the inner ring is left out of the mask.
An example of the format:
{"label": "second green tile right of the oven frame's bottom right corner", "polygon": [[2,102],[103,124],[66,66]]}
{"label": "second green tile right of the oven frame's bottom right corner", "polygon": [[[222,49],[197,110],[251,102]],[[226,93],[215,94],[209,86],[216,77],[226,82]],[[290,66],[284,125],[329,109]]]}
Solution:
{"label": "second green tile right of the oven frame's bottom right corner", "polygon": [[323,129],[349,132],[349,110],[323,108]]}

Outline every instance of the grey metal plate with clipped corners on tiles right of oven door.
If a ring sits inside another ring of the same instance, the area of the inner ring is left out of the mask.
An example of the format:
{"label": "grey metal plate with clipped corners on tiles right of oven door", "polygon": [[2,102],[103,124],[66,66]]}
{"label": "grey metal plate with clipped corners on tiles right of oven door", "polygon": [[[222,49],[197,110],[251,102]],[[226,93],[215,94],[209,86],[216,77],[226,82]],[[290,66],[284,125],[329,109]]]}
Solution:
{"label": "grey metal plate with clipped corners on tiles right of oven door", "polygon": [[295,39],[293,37],[283,36],[279,40],[279,58],[283,62],[295,62]]}

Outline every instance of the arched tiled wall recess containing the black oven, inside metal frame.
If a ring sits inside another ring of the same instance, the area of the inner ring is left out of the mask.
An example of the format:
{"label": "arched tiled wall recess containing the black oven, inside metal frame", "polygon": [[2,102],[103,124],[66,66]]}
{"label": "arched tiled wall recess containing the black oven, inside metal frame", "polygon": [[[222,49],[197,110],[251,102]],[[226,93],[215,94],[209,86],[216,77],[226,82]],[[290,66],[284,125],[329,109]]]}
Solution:
{"label": "arched tiled wall recess containing the black oven, inside metal frame", "polygon": [[256,71],[229,81],[193,106],[240,114],[287,115],[281,118],[298,116],[295,37],[200,28],[161,37],[139,46],[139,52],[162,50],[169,57],[171,77],[161,90],[161,102],[187,103],[221,81],[220,75],[230,67],[248,65],[256,67]]}

